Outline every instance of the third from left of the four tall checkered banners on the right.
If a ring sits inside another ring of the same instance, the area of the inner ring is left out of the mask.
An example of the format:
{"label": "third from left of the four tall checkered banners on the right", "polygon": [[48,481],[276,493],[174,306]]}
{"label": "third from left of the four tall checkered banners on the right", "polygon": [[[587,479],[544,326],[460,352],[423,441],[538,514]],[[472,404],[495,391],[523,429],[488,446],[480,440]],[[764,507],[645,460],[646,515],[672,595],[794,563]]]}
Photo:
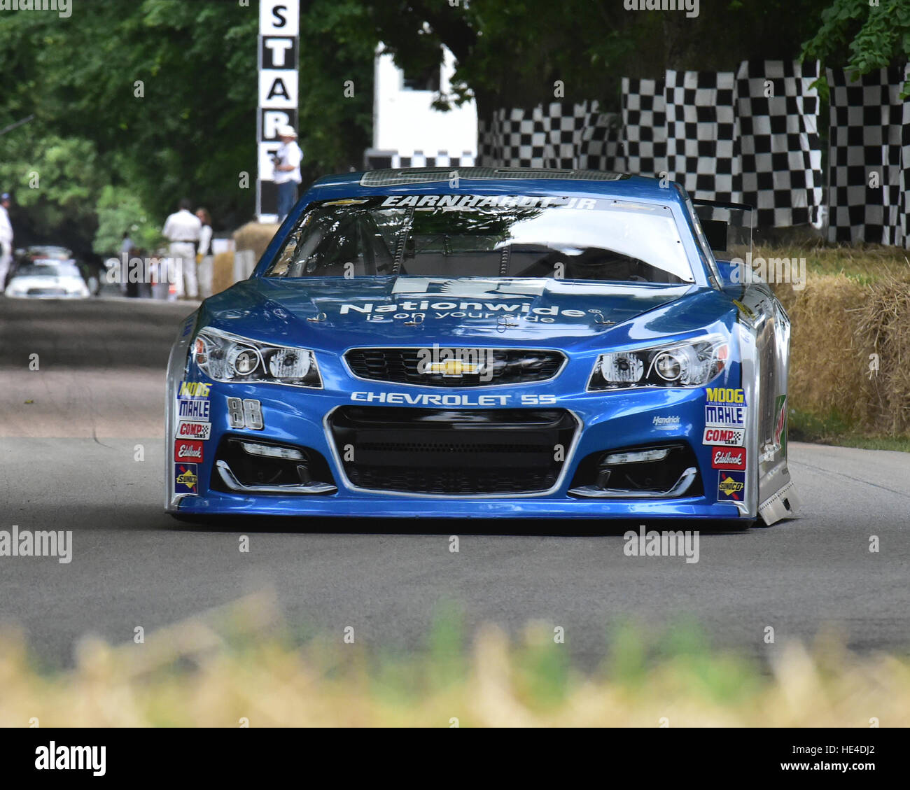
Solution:
{"label": "third from left of the four tall checkered banners on the right", "polygon": [[821,227],[822,147],[818,63],[743,61],[736,75],[736,116],[743,203],[756,224]]}

